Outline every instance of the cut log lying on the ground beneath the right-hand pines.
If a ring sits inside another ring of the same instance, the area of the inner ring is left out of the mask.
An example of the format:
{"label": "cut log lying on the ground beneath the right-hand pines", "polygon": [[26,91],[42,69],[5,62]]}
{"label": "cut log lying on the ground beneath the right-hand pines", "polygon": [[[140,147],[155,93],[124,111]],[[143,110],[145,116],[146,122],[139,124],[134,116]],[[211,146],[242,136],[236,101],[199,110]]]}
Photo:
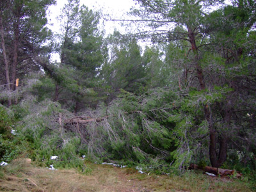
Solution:
{"label": "cut log lying on the ground beneath the right-hand pines", "polygon": [[220,175],[221,177],[227,177],[234,175],[236,178],[241,178],[242,173],[236,172],[235,170],[227,170],[227,169],[221,169],[221,168],[216,168],[212,166],[205,166],[204,168],[201,168],[197,164],[190,164],[189,166],[190,170],[204,170],[204,172],[208,173],[213,173],[214,175]]}

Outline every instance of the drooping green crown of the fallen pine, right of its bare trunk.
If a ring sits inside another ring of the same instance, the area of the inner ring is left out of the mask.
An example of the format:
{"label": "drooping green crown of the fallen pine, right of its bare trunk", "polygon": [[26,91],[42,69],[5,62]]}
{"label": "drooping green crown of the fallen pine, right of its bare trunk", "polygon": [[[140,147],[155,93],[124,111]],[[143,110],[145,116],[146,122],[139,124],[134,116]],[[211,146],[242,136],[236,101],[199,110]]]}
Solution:
{"label": "drooping green crown of the fallen pine, right of its bare trunk", "polygon": [[[103,130],[97,127],[95,134],[84,138],[94,143],[90,153],[96,157],[105,156],[110,161],[129,160],[148,164],[150,159],[158,157],[166,162],[173,161],[168,152],[175,150],[175,138],[170,131],[173,126],[162,121],[164,115],[170,115],[163,109],[170,101],[170,95],[174,97],[170,90],[161,89],[151,90],[145,97],[122,90],[120,98],[108,107],[111,116],[108,122],[102,124]],[[95,143],[99,137],[101,142]]]}

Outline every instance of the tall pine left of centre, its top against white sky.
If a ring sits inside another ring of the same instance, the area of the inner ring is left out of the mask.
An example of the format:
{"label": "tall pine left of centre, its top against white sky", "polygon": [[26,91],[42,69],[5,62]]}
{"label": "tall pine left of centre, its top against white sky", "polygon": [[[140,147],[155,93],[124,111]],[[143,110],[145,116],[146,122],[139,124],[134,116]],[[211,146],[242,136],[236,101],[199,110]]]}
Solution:
{"label": "tall pine left of centre, its top against white sky", "polygon": [[54,100],[75,112],[88,106],[95,108],[102,99],[102,95],[97,97],[102,90],[99,70],[108,52],[104,34],[98,28],[100,13],[70,0],[59,19],[60,43],[56,47],[61,61],[52,67],[56,81]]}

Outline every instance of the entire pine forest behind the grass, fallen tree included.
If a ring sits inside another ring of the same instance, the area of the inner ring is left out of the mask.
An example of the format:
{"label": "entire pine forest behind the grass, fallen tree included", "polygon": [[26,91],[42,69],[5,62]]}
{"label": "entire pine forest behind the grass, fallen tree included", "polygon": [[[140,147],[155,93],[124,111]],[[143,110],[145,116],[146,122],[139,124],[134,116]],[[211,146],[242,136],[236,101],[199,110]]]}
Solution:
{"label": "entire pine forest behind the grass, fallen tree included", "polygon": [[118,22],[138,30],[108,36],[102,14],[79,0],[52,33],[54,3],[0,1],[1,160],[49,166],[58,155],[55,166],[83,170],[85,155],[256,177],[255,1],[136,0],[132,19]]}

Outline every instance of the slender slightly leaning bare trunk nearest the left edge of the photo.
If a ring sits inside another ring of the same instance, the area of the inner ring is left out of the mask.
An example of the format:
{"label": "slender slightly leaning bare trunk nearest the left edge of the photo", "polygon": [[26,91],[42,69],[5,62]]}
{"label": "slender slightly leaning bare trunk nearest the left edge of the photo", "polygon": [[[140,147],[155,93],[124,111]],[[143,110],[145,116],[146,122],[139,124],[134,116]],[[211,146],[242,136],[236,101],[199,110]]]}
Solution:
{"label": "slender slightly leaning bare trunk nearest the left edge of the photo", "polygon": [[[3,28],[3,18],[0,15],[0,33],[1,33],[1,46],[3,49],[4,65],[5,65],[5,75],[6,75],[6,85],[8,91],[11,90],[10,76],[9,76],[9,62],[6,55],[5,43],[4,43],[4,28]],[[8,99],[8,106],[12,106],[12,99]]]}

